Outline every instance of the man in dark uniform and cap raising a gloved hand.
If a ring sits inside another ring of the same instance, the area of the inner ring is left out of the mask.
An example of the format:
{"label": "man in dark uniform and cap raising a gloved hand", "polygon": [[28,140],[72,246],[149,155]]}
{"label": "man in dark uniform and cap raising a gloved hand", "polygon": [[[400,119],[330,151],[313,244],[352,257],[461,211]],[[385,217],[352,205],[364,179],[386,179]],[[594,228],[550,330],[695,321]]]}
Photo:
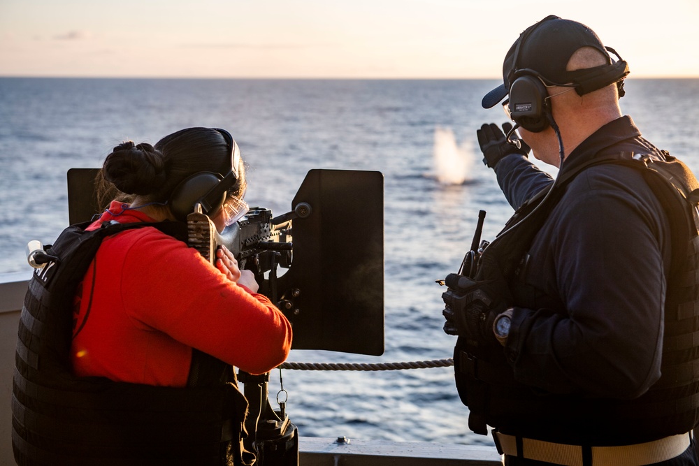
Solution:
{"label": "man in dark uniform and cap raising a gloved hand", "polygon": [[[495,428],[505,465],[699,464],[695,201],[647,173],[682,164],[622,116],[627,74],[591,29],[549,16],[482,102],[507,98],[515,128],[477,133],[517,213],[477,275],[447,279],[445,331],[469,426]],[[692,198],[696,179],[677,178]]]}

